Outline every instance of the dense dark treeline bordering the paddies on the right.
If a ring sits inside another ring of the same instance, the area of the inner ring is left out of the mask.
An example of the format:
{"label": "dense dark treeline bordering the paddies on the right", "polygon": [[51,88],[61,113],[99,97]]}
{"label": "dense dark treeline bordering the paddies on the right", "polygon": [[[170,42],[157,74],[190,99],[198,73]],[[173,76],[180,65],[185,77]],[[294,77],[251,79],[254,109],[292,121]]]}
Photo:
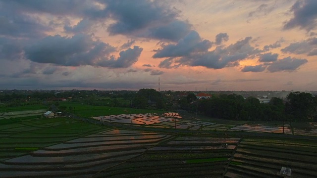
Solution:
{"label": "dense dark treeline bordering the paddies on the right", "polygon": [[[195,106],[197,108],[195,108]],[[236,94],[222,94],[197,100],[191,111],[209,117],[246,121],[312,121],[317,119],[317,98],[311,93],[290,92],[286,100],[273,97],[268,104],[255,97],[244,99]]]}

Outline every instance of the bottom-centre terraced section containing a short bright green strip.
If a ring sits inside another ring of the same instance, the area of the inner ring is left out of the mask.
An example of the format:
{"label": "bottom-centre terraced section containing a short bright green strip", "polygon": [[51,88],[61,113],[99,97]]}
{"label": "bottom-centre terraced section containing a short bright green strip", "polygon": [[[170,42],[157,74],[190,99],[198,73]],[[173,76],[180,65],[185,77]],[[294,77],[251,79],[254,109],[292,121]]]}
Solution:
{"label": "bottom-centre terraced section containing a short bright green strip", "polygon": [[221,178],[239,141],[235,137],[176,137],[94,178]]}

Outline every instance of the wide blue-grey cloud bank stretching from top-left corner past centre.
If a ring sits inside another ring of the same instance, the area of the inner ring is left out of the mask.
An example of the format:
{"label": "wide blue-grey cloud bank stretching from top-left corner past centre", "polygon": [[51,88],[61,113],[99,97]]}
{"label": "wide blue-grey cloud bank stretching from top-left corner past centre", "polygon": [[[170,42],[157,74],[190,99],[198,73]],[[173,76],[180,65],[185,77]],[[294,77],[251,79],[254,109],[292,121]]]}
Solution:
{"label": "wide blue-grey cloud bank stretching from top-left corner past centre", "polygon": [[[192,27],[188,21],[177,19],[179,13],[165,0],[0,0],[0,33],[43,38],[45,32],[60,27],[76,34],[110,20],[114,21],[106,27],[110,35],[177,42]],[[53,19],[41,22],[39,14],[52,15]],[[72,26],[73,17],[81,20]]]}

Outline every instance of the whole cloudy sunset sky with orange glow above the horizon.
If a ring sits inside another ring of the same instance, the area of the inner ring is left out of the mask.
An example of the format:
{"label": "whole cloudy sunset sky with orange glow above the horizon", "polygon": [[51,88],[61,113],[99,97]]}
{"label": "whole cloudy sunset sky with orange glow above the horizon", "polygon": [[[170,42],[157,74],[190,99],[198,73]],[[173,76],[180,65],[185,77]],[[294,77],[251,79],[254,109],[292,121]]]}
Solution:
{"label": "whole cloudy sunset sky with orange glow above the horizon", "polygon": [[317,90],[316,9],[317,0],[0,0],[0,89]]}

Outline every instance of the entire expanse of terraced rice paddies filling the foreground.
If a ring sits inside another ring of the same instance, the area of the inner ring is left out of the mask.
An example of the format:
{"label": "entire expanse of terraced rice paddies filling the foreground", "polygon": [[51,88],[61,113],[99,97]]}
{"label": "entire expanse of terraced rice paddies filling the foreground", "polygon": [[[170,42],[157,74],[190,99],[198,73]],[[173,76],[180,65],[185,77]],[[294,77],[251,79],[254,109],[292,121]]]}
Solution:
{"label": "entire expanse of terraced rice paddies filling the foreground", "polygon": [[[12,114],[13,113],[13,114]],[[0,177],[278,178],[317,176],[317,137],[281,123],[118,114],[0,120]],[[298,135],[297,135],[298,134]]]}

